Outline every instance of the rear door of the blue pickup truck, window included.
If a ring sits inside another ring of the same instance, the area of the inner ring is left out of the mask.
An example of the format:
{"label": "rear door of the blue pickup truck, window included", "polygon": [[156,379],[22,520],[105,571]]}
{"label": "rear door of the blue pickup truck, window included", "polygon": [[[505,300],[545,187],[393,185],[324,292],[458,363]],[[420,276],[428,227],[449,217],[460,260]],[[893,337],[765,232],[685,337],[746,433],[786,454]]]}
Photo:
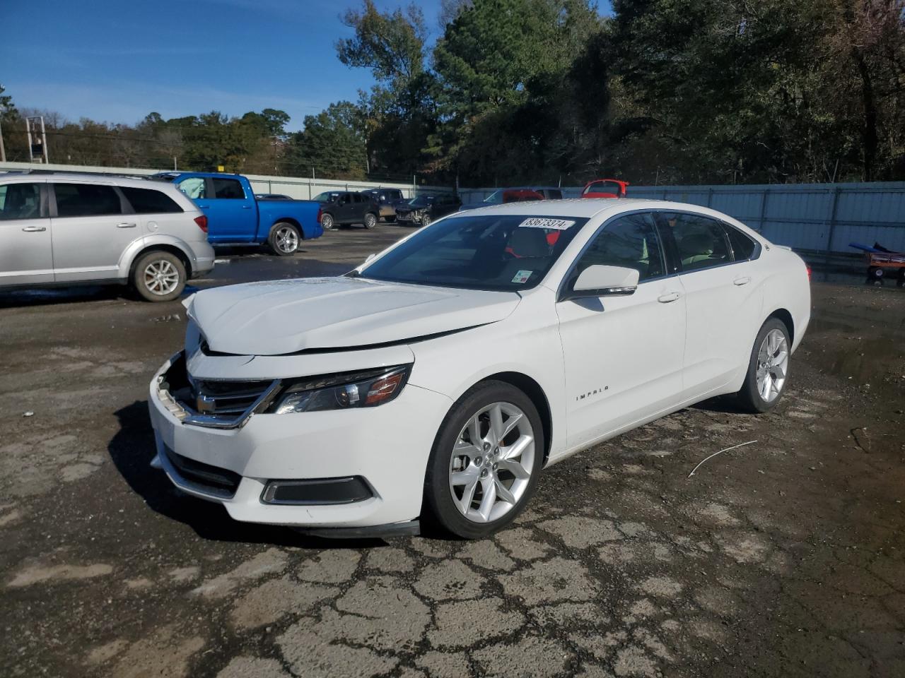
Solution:
{"label": "rear door of the blue pickup truck, window included", "polygon": [[207,239],[211,242],[251,242],[258,231],[254,195],[233,177],[206,180],[204,199],[195,202],[207,215]]}

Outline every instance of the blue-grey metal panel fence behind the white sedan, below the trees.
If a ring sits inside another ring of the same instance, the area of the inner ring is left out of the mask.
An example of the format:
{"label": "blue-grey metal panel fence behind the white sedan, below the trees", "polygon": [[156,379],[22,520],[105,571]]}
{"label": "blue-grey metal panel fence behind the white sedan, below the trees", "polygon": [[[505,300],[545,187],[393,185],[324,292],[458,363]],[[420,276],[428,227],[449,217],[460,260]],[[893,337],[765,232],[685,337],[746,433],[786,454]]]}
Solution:
{"label": "blue-grey metal panel fence behind the white sedan, below the trees", "polygon": [[[464,189],[462,202],[481,202],[496,189]],[[581,189],[564,187],[564,197]],[[905,251],[905,182],[629,186],[630,198],[690,202],[725,212],[779,245],[853,253],[848,244],[879,242]]]}

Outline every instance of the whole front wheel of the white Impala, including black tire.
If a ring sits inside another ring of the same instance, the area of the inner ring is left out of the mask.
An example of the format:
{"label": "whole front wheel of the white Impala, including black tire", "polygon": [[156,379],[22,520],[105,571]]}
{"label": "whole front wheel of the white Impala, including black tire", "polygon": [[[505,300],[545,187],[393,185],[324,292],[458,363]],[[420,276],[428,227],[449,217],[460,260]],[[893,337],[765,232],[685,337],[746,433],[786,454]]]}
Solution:
{"label": "whole front wheel of the white Impala, including black tire", "polygon": [[[518,419],[503,436],[506,445],[497,446],[500,427],[505,433],[513,417]],[[481,437],[480,447],[470,445],[472,436]],[[537,488],[544,442],[538,410],[524,392],[503,381],[474,386],[452,406],[434,440],[424,476],[427,517],[462,539],[481,539],[505,527]]]}

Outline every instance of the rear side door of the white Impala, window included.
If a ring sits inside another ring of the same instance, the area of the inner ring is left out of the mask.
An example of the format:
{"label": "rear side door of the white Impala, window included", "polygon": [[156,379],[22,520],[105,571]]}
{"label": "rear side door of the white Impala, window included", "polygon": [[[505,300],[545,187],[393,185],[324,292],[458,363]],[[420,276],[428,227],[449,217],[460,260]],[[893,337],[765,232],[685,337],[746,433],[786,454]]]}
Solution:
{"label": "rear side door of the white Impala, window included", "polygon": [[661,212],[658,218],[685,290],[685,395],[698,397],[719,390],[748,361],[762,303],[753,250],[737,258],[727,227],[709,216]]}

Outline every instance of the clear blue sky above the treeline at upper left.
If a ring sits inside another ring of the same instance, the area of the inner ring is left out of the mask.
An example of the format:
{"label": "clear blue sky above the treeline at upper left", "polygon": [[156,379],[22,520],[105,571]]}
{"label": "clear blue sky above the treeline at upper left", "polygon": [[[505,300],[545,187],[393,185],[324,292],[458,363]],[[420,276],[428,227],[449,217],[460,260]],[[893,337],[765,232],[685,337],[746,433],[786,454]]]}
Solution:
{"label": "clear blue sky above the treeline at upper left", "polygon": [[[407,4],[376,0],[382,10]],[[440,0],[422,0],[432,39]],[[135,123],[281,108],[303,118],[373,83],[334,43],[360,0],[0,0],[0,82],[18,106]],[[604,0],[601,7],[609,8]],[[42,30],[43,28],[43,30]]]}

